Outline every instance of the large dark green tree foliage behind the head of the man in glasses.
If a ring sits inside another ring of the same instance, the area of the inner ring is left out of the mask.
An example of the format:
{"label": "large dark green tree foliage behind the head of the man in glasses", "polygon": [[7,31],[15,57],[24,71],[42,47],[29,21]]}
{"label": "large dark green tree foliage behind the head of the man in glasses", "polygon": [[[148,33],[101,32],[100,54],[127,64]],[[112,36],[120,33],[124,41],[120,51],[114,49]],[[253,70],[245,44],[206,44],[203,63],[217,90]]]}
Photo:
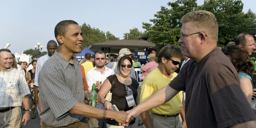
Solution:
{"label": "large dark green tree foliage behind the head of the man in glasses", "polygon": [[167,44],[179,44],[180,19],[183,15],[194,10],[206,10],[212,12],[218,22],[218,46],[225,46],[229,41],[235,41],[237,35],[242,32],[256,29],[255,14],[249,10],[243,13],[241,0],[205,0],[202,6],[198,6],[196,0],[176,0],[169,2],[167,7],[161,6],[161,10],[155,14],[150,23],[143,23],[145,34],[160,48]]}

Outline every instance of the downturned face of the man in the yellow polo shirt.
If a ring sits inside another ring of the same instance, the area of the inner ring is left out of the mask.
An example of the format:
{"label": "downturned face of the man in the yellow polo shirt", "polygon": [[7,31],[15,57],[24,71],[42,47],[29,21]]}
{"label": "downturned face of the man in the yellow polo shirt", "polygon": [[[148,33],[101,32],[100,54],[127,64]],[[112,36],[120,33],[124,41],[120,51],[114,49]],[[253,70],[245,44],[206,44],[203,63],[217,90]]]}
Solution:
{"label": "downturned face of the man in the yellow polo shirt", "polygon": [[172,60],[181,62],[180,58],[171,58],[171,60],[166,59],[165,64],[163,64],[163,66],[167,74],[173,74],[175,70],[179,68],[179,64],[174,65]]}

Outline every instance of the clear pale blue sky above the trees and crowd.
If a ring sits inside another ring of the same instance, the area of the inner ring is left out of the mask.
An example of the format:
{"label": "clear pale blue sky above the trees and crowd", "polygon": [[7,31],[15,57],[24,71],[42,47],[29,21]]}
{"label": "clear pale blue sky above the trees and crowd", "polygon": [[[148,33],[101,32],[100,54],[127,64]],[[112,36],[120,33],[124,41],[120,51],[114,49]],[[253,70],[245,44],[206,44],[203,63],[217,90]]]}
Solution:
{"label": "clear pale blue sky above the trees and crowd", "polygon": [[[55,40],[54,27],[62,20],[74,20],[79,25],[110,31],[123,39],[123,33],[142,22],[149,23],[161,6],[172,0],[5,0],[0,2],[0,47],[10,43],[12,53],[34,49],[37,42],[46,50],[49,40]],[[243,12],[256,13],[254,0],[242,0]],[[198,5],[203,0],[198,0]]]}

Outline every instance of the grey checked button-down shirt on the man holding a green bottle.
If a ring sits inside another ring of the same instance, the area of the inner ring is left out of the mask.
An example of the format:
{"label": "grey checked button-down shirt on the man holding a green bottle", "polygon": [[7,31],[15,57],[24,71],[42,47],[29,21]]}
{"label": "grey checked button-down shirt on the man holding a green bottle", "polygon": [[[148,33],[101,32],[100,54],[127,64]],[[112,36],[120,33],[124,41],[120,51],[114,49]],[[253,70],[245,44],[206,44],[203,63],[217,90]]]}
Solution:
{"label": "grey checked button-down shirt on the man holding a green bottle", "polygon": [[69,112],[77,103],[84,103],[85,99],[79,63],[76,58],[72,59],[74,64],[55,52],[39,73],[40,118],[48,126],[63,127],[84,118]]}

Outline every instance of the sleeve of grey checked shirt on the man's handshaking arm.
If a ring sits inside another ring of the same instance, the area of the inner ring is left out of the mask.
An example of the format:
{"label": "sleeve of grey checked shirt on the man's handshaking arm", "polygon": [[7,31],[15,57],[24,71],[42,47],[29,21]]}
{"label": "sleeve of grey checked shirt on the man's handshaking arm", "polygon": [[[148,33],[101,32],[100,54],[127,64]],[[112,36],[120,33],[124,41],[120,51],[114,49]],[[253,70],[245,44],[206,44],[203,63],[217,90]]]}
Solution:
{"label": "sleeve of grey checked shirt on the man's handshaking arm", "polygon": [[56,119],[62,117],[78,103],[60,74],[48,73],[40,76],[39,83],[40,91],[44,94]]}

